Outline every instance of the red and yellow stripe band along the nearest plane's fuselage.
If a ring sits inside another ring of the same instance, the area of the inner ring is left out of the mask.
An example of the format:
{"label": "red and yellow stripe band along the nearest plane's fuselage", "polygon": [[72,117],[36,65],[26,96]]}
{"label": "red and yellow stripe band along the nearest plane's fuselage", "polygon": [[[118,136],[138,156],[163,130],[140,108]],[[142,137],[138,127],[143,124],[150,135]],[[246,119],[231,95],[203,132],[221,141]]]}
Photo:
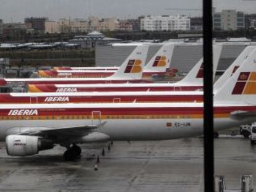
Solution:
{"label": "red and yellow stripe band along the nearest plane's fuselage", "polygon": [[[1,109],[0,120],[50,119],[202,119],[203,107],[121,107],[37,109],[37,115],[8,115],[12,109]],[[215,107],[215,118],[229,118],[233,111],[256,111],[256,106]],[[96,112],[96,113],[95,113]]]}

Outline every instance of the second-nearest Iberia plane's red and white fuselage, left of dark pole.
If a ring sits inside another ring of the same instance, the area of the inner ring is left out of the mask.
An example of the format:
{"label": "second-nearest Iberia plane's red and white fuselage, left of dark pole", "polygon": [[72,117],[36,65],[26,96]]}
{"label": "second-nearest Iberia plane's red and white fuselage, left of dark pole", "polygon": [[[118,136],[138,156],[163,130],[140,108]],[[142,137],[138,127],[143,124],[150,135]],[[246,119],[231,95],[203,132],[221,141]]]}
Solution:
{"label": "second-nearest Iberia plane's red and white fuselage, left of dark pole", "polygon": [[0,104],[76,102],[202,102],[202,91],[0,93]]}

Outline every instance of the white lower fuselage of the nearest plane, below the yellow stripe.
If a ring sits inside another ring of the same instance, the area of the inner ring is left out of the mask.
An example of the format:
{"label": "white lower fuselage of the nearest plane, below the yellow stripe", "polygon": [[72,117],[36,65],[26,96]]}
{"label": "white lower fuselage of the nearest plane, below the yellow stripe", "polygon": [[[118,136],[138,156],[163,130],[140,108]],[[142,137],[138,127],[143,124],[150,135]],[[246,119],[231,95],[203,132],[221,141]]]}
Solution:
{"label": "white lower fuselage of the nearest plane, below the yellow stripe", "polygon": [[[255,120],[255,119],[254,119]],[[249,120],[253,122],[254,120]],[[166,123],[173,122],[176,125],[173,127],[166,127]],[[216,131],[225,128],[236,127],[247,123],[245,121],[237,122],[231,119],[215,120]],[[83,125],[92,123],[92,120],[23,120],[9,122],[1,121],[0,140],[5,141],[6,131],[13,127],[64,127]],[[147,141],[147,140],[173,140],[177,138],[186,138],[203,134],[203,120],[202,119],[148,119],[148,120],[108,120],[106,125],[96,129],[100,133],[105,133],[111,140],[118,141]]]}

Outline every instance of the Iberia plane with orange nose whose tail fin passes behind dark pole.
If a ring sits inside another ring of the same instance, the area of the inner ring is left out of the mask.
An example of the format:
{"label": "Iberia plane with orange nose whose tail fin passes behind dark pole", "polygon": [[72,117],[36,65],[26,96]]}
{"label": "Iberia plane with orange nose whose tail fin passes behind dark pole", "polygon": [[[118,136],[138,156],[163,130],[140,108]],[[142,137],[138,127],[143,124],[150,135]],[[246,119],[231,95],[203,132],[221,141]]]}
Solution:
{"label": "Iberia plane with orange nose whose tail fin passes behind dark pole", "polygon": [[[213,72],[216,72],[220,59],[222,46],[213,46]],[[134,84],[104,84],[104,85],[58,85],[57,83],[40,85],[40,83],[29,83],[29,92],[84,92],[84,91],[195,91],[203,86],[203,59],[190,70],[181,81],[176,83],[134,83]]]}

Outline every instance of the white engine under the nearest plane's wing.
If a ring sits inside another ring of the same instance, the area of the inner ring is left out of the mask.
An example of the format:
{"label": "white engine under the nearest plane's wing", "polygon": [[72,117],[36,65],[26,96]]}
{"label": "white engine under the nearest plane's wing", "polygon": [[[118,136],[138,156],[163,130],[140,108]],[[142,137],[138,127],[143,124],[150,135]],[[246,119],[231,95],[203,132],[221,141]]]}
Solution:
{"label": "white engine under the nearest plane's wing", "polygon": [[6,151],[9,156],[31,156],[38,151],[52,148],[53,142],[38,136],[9,135],[6,137]]}

